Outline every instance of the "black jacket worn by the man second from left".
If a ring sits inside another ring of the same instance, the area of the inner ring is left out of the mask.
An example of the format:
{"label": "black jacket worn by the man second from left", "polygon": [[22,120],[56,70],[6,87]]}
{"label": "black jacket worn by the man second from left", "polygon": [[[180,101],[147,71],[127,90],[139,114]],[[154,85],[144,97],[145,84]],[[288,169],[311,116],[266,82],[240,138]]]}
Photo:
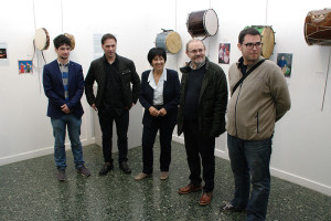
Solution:
{"label": "black jacket worn by the man second from left", "polygon": [[[136,72],[135,64],[131,60],[116,54],[117,70],[121,82],[121,91],[124,96],[125,106],[131,108],[132,103],[137,103],[140,91],[140,78]],[[106,70],[105,70],[105,55],[93,61],[85,78],[85,94],[89,105],[95,104],[99,108],[100,102],[104,97]],[[96,96],[93,93],[93,84],[97,82],[98,90]],[[132,83],[132,90],[131,90]]]}

